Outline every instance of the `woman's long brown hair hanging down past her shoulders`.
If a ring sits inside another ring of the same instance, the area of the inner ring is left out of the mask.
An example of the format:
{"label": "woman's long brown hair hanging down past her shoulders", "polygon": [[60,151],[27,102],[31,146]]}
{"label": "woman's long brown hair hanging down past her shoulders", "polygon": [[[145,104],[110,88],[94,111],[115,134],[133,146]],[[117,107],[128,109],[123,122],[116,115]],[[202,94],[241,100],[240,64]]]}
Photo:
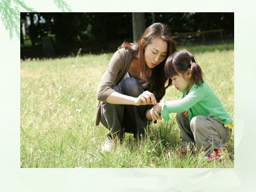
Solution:
{"label": "woman's long brown hair hanging down past her shoulders", "polygon": [[[145,47],[150,44],[155,37],[167,42],[168,50],[166,58],[153,68],[152,76],[149,77],[149,68],[145,62],[144,52]],[[129,50],[133,58],[138,60],[141,70],[141,78],[146,82],[149,82],[147,90],[154,93],[156,100],[159,102],[165,95],[165,89],[171,85],[171,82],[168,81],[168,78],[164,75],[165,61],[167,57],[177,49],[177,43],[174,41],[170,28],[163,23],[154,23],[145,30],[137,43],[124,42],[118,49],[121,48]],[[168,83],[166,84],[167,81]]]}

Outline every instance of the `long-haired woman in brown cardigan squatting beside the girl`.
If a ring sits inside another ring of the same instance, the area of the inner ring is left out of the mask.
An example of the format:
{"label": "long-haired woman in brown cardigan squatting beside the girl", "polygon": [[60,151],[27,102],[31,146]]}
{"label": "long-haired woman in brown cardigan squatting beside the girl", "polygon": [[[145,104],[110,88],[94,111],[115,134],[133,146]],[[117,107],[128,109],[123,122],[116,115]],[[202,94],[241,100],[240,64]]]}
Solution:
{"label": "long-haired woman in brown cardigan squatting beside the girl", "polygon": [[170,29],[154,23],[137,43],[123,43],[113,55],[97,90],[96,125],[109,129],[103,151],[110,150],[114,138],[122,140],[124,132],[140,138],[152,119],[161,118],[152,105],[170,85],[164,63],[176,47]]}

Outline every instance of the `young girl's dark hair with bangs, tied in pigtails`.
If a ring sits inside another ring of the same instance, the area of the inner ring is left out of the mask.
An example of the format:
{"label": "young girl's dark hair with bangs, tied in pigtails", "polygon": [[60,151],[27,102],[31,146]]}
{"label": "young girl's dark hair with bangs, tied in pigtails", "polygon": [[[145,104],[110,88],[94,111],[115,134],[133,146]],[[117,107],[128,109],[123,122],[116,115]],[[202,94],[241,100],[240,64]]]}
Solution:
{"label": "young girl's dark hair with bangs, tied in pigtails", "polygon": [[179,50],[170,55],[165,63],[164,72],[172,83],[171,77],[184,74],[190,69],[192,78],[195,84],[201,85],[203,83],[203,72],[201,67],[196,63],[195,57],[187,50]]}

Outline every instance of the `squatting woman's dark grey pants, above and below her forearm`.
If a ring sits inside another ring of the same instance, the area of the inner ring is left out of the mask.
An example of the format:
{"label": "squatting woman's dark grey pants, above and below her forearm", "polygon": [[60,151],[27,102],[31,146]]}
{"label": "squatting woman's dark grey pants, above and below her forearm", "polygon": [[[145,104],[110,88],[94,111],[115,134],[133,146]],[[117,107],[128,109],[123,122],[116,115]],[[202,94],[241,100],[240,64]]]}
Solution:
{"label": "squatting woman's dark grey pants, above and below her forearm", "polygon": [[[112,86],[112,89],[131,97],[138,97],[145,91],[141,83],[133,77],[125,79],[122,90],[117,85]],[[151,122],[146,118],[146,111],[152,107],[151,105],[116,105],[102,102],[100,122],[109,129],[107,138],[112,140],[118,136],[122,140],[124,132],[133,133],[135,139],[145,135],[145,130],[149,129]]]}

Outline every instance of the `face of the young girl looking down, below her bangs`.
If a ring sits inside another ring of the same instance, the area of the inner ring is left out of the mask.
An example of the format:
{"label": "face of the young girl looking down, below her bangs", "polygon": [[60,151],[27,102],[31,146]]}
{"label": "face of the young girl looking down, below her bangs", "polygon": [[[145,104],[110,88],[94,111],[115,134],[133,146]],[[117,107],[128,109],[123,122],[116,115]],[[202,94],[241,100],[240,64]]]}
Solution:
{"label": "face of the young girl looking down, below her bangs", "polygon": [[172,85],[174,85],[175,88],[180,92],[183,92],[186,89],[189,92],[191,86],[194,83],[191,78],[190,69],[188,69],[184,74],[178,73],[178,75],[174,75],[173,77],[171,77],[171,79]]}

